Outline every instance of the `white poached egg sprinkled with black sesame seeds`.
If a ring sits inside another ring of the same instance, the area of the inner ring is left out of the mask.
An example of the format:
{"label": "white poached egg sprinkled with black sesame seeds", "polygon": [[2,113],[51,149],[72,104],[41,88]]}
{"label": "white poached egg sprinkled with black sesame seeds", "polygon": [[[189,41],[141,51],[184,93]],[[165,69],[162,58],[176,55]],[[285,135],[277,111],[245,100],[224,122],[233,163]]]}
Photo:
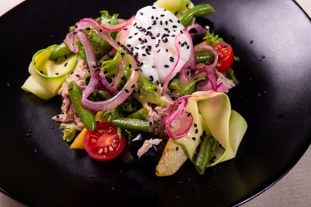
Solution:
{"label": "white poached egg sprinkled with black sesame seeds", "polygon": [[[137,11],[119,43],[136,58],[145,79],[163,84],[173,78],[190,58],[191,40],[185,27],[170,11],[146,6]],[[173,71],[172,71],[173,70]]]}

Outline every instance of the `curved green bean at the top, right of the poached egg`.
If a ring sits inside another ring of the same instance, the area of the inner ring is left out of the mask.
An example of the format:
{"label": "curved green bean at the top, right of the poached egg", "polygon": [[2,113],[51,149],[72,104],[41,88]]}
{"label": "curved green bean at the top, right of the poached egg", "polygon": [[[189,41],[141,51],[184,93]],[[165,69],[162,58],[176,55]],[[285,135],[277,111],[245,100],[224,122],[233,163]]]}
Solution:
{"label": "curved green bean at the top, right of the poached egg", "polygon": [[202,17],[215,12],[216,10],[210,4],[198,4],[180,15],[179,20],[183,26],[189,26],[194,23],[195,17]]}

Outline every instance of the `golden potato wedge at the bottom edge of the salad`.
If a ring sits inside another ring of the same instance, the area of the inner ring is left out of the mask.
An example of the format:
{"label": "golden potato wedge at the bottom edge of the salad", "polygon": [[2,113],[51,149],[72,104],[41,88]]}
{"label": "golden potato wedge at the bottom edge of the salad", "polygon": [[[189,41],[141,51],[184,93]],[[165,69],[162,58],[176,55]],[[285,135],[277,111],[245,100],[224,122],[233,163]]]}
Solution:
{"label": "golden potato wedge at the bottom edge of the salad", "polygon": [[188,158],[189,156],[182,145],[177,144],[174,139],[169,138],[163,154],[156,165],[156,175],[173,175]]}

